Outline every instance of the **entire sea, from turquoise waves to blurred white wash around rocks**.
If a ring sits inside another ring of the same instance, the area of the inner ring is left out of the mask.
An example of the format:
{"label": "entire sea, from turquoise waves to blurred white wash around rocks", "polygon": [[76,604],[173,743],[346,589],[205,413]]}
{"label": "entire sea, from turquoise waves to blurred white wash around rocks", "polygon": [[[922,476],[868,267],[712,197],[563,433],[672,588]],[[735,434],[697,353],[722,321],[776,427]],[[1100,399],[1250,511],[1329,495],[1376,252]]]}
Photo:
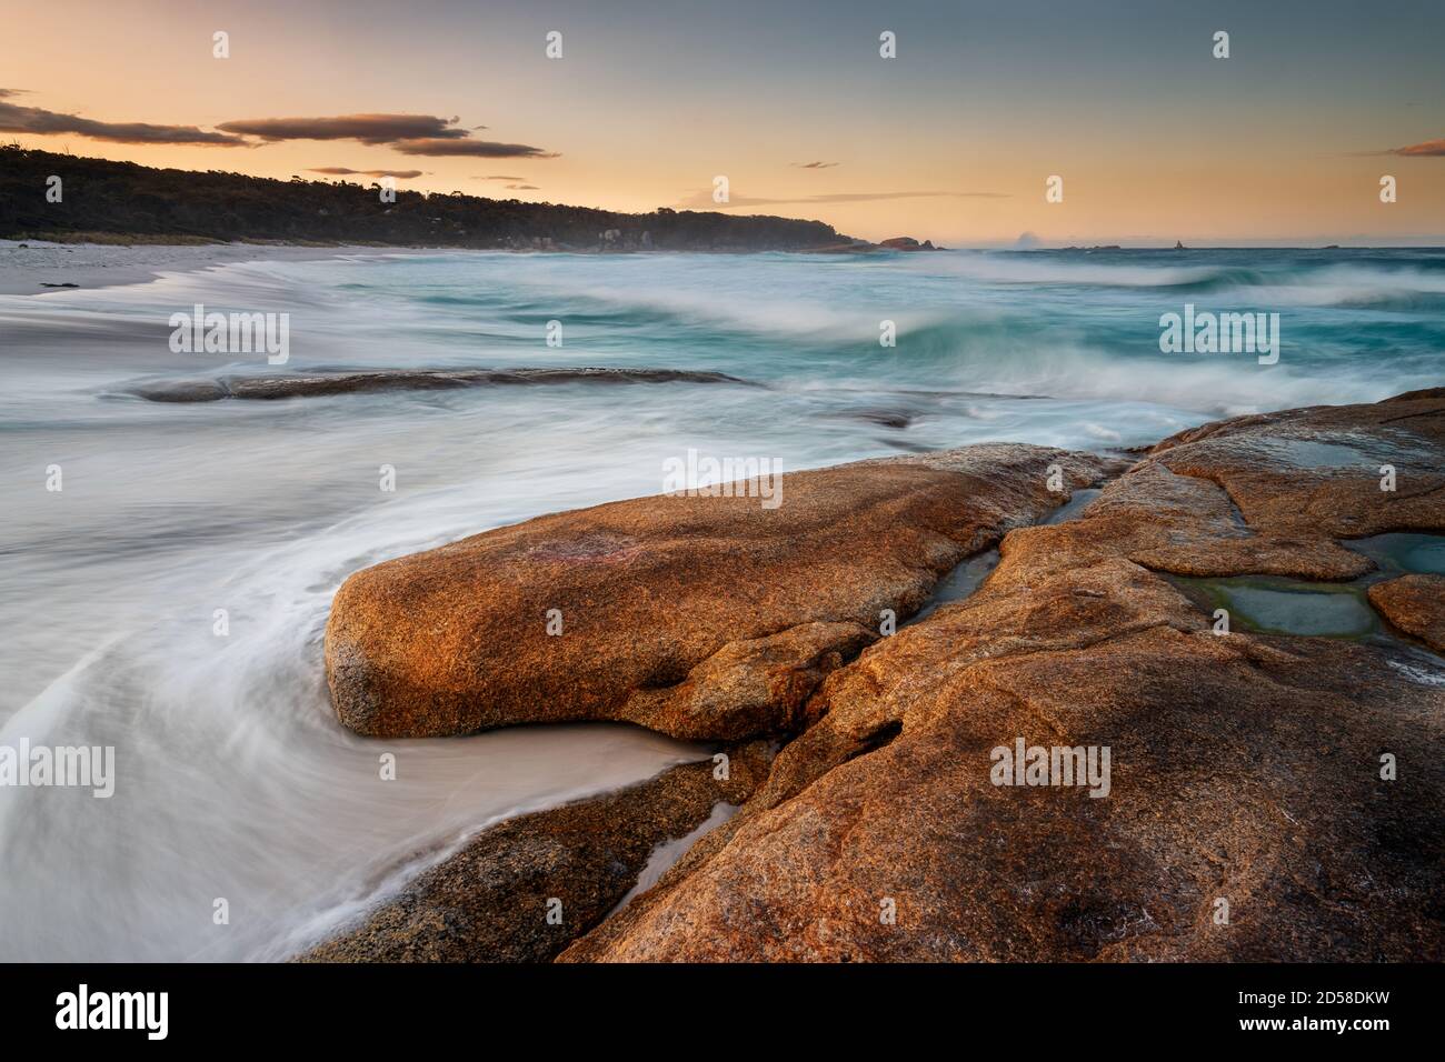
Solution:
{"label": "entire sea, from turquoise waves to blurred white wash around rocks", "polygon": [[[286,363],[173,353],[198,303],[288,315]],[[1186,308],[1277,314],[1277,361],[1162,353]],[[133,393],[581,366],[738,381]],[[0,747],[116,764],[104,799],[0,786],[0,959],[283,957],[488,822],[707,753],[616,725],[351,735],[321,636],[361,566],[657,493],[689,451],[786,471],[1000,439],[1114,451],[1442,370],[1438,249],[338,254],[0,296]]]}

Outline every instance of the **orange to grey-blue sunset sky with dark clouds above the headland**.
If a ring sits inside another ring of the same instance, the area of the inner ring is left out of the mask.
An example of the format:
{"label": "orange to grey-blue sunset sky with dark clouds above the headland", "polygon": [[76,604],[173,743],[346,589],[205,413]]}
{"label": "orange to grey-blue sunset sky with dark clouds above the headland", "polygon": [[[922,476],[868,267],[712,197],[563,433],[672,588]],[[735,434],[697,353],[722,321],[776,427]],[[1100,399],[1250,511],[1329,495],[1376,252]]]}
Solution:
{"label": "orange to grey-blue sunset sky with dark clouds above the headland", "polygon": [[0,142],[946,246],[1445,244],[1442,42],[1445,0],[0,0]]}

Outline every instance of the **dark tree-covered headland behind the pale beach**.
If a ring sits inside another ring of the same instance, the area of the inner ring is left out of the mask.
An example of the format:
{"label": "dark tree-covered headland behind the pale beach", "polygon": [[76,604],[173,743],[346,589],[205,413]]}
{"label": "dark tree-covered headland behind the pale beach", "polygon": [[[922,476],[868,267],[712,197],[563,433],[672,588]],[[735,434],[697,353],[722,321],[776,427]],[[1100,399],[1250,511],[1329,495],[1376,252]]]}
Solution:
{"label": "dark tree-covered headland behind the pale beach", "polygon": [[[58,179],[58,181],[56,181]],[[556,250],[825,250],[867,246],[822,221],[650,214],[348,181],[155,169],[0,146],[0,237],[137,243],[260,240]]]}

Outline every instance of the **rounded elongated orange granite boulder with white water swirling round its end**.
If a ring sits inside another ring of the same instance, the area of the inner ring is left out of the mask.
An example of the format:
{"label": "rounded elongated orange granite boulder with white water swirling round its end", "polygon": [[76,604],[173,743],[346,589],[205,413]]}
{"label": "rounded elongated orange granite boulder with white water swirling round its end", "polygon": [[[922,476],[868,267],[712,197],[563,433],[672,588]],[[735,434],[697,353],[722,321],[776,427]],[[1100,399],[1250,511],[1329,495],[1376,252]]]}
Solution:
{"label": "rounded elongated orange granite boulder with white water swirling round its end", "polygon": [[902,621],[959,561],[1104,468],[970,446],[792,472],[773,509],[634,498],[389,561],[337,592],[332,704],[380,737],[575,720],[681,738],[789,731],[886,610]]}

